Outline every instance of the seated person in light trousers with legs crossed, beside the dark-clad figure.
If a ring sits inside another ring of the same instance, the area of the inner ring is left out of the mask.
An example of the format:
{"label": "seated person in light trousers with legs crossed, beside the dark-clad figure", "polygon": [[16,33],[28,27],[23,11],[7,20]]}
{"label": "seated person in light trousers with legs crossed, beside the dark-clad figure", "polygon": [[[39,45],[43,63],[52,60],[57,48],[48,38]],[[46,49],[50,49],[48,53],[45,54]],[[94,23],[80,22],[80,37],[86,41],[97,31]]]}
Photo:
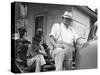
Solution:
{"label": "seated person in light trousers with legs crossed, beside the dark-clad figure", "polygon": [[46,56],[46,52],[42,46],[42,36],[42,30],[38,29],[36,35],[32,40],[32,45],[29,46],[29,50],[27,52],[27,65],[28,67],[32,67],[34,64],[36,64],[35,72],[40,72],[41,66],[46,64],[46,61],[44,59],[44,56]]}

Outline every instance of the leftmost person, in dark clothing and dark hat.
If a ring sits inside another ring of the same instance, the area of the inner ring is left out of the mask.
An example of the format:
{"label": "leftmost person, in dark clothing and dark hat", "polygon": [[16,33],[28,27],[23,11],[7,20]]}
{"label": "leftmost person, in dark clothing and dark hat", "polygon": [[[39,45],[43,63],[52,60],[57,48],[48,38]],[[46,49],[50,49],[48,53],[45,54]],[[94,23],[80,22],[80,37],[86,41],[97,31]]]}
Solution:
{"label": "leftmost person, in dark clothing and dark hat", "polygon": [[17,49],[16,60],[26,62],[27,59],[26,54],[30,42],[24,37],[26,33],[26,29],[24,27],[20,27],[18,29],[18,33],[19,33],[19,39],[16,40],[16,49]]}

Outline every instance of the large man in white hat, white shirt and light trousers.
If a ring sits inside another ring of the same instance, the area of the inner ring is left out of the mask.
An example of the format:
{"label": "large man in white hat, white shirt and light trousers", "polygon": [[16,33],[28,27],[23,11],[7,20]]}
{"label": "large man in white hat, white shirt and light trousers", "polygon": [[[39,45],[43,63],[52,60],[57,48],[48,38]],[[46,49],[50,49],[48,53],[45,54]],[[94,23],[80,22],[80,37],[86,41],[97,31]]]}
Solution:
{"label": "large man in white hat, white shirt and light trousers", "polygon": [[53,25],[50,33],[50,42],[54,48],[52,56],[57,71],[63,70],[64,59],[67,60],[67,63],[72,61],[73,42],[77,42],[79,38],[71,27],[72,13],[65,11],[62,20],[61,24],[55,23]]}

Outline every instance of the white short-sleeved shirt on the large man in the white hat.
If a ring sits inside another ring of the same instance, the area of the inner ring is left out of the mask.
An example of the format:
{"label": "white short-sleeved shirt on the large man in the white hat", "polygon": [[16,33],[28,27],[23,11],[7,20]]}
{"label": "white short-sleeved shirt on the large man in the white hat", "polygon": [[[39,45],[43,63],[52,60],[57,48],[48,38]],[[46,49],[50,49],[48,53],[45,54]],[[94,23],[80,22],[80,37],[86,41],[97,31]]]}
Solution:
{"label": "white short-sleeved shirt on the large man in the white hat", "polygon": [[66,28],[63,23],[55,23],[51,29],[50,36],[51,35],[54,36],[57,41],[62,41],[72,45],[73,41],[76,42],[76,40],[79,38],[79,36],[71,26]]}

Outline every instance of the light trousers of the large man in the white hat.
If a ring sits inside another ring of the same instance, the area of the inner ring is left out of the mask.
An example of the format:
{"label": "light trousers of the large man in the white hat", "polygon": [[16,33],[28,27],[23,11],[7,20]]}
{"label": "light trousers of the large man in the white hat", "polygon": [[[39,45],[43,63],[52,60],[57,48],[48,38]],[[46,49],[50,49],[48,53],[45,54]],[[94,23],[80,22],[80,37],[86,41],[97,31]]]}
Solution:
{"label": "light trousers of the large man in the white hat", "polygon": [[63,70],[63,62],[64,60],[66,61],[70,61],[72,60],[72,51],[73,51],[73,47],[72,46],[67,46],[65,49],[63,48],[56,48],[53,51],[53,58],[55,61],[55,67],[56,67],[56,71],[61,71]]}

